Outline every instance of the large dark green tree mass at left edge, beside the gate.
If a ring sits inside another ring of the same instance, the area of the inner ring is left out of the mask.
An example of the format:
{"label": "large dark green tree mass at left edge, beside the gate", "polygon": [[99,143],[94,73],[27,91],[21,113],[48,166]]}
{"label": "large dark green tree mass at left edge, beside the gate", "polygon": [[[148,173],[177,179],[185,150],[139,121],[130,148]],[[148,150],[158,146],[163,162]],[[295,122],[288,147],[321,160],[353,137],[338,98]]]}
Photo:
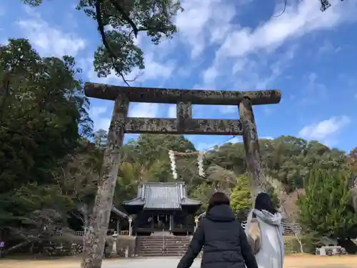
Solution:
{"label": "large dark green tree mass at left edge, beside the gate", "polygon": [[53,234],[79,200],[93,199],[80,71],[70,56],[43,58],[25,39],[0,46],[0,226],[19,237]]}

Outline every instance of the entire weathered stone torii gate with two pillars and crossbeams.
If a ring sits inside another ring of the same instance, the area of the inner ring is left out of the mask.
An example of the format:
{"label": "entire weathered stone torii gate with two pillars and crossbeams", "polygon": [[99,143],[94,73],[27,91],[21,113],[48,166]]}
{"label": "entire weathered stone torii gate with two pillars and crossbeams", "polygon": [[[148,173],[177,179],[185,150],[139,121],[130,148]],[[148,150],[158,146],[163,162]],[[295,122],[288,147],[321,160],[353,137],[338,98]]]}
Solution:
{"label": "entire weathered stone torii gate with two pillars and crossbeams", "polygon": [[[115,102],[104,154],[103,174],[99,179],[94,211],[84,243],[82,267],[101,267],[101,254],[119,171],[119,149],[125,133],[242,135],[253,188],[265,182],[252,106],[278,104],[281,91],[157,89],[86,83],[85,94],[91,98]],[[131,101],[176,104],[176,119],[127,117]],[[240,120],[193,119],[193,104],[236,105]]]}

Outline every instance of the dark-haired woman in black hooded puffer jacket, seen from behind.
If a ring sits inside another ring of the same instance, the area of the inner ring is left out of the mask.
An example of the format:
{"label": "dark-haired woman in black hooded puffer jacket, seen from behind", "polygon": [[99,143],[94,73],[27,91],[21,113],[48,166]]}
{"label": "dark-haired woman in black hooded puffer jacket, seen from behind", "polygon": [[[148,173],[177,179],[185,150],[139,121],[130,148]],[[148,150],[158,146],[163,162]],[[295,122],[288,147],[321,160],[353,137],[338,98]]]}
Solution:
{"label": "dark-haired woman in black hooded puffer jacket, seen from behind", "polygon": [[258,268],[244,229],[222,192],[209,199],[206,217],[201,219],[177,268],[191,267],[202,247],[201,268]]}

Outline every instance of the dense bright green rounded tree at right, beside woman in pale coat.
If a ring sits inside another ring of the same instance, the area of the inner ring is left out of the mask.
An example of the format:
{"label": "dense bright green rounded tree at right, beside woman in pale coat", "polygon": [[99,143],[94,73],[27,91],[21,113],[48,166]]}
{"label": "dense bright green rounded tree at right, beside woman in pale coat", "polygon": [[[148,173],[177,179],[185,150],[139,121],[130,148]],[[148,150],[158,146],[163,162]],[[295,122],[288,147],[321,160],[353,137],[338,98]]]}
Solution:
{"label": "dense bright green rounded tree at right, beside woman in pale coat", "polygon": [[348,174],[342,170],[313,169],[298,199],[303,229],[321,236],[346,239],[356,234],[357,214],[353,211]]}

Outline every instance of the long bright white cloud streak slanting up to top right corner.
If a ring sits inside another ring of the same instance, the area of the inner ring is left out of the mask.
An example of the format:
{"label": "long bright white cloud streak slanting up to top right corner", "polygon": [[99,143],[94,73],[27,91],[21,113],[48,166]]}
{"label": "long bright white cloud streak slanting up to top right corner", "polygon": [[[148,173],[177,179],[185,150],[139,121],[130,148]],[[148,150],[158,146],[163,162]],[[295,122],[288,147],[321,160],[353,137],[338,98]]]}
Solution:
{"label": "long bright white cloud streak slanting up to top right corner", "polygon": [[[320,12],[319,1],[292,1],[286,11],[279,17],[271,17],[256,29],[243,28],[231,32],[224,41],[218,55],[245,56],[261,49],[271,50],[281,46],[288,39],[296,39],[311,31],[331,29],[343,21],[351,19],[351,7],[354,4],[339,4],[326,12]],[[239,45],[237,45],[239,44]]]}

